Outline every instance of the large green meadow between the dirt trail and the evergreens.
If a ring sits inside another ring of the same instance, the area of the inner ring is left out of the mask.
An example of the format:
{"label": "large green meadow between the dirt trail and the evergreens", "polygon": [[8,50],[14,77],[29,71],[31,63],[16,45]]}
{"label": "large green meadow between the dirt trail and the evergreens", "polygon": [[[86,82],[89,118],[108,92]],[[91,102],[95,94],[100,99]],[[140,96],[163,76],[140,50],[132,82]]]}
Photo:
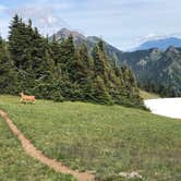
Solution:
{"label": "large green meadow between the dirt trail and the evergreens", "polygon": [[47,156],[99,180],[121,180],[121,171],[137,171],[146,181],[181,180],[180,120],[121,106],[23,105],[12,96],[0,96],[0,108]]}

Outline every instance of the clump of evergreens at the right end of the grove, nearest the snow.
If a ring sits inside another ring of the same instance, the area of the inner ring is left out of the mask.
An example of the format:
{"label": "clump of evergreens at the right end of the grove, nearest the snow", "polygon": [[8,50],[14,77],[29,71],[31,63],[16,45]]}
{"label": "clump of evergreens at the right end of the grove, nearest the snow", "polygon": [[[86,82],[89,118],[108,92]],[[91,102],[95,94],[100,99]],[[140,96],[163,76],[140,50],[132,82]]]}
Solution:
{"label": "clump of evergreens at the right end of the grove, nearest the snow", "polygon": [[102,80],[102,82],[100,81],[101,87],[105,86],[105,89],[101,88],[102,95],[107,95],[107,98],[110,97],[114,104],[142,105],[136,81],[131,70],[125,64],[120,68],[116,60],[109,60],[102,41],[94,48],[93,58],[95,75]]}

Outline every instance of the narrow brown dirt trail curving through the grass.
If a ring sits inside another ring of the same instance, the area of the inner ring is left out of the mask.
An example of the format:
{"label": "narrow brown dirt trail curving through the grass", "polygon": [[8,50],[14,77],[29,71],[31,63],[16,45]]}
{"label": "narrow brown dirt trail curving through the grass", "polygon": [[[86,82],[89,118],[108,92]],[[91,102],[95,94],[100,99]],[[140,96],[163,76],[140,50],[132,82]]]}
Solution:
{"label": "narrow brown dirt trail curving through the grass", "polygon": [[8,114],[0,110],[0,116],[7,121],[10,130],[19,137],[22,143],[23,149],[33,158],[38,159],[40,162],[47,165],[48,167],[65,174],[74,176],[79,181],[94,181],[95,178],[89,172],[79,172],[70,169],[69,167],[63,166],[60,161],[56,159],[48,158],[40,150],[38,150],[29,140],[27,140],[24,134],[16,128],[16,125],[10,120]]}

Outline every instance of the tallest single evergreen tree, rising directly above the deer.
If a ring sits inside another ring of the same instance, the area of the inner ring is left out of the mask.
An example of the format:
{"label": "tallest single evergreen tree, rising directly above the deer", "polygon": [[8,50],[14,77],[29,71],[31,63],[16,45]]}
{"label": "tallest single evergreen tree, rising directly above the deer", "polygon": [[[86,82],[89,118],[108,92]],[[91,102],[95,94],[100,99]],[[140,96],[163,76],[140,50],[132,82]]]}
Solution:
{"label": "tallest single evergreen tree, rising directly above the deer", "polygon": [[31,69],[29,61],[32,60],[29,52],[32,40],[28,36],[28,29],[19,15],[13,17],[10,26],[9,50],[17,70],[20,89],[29,86],[33,82],[32,74],[27,72]]}

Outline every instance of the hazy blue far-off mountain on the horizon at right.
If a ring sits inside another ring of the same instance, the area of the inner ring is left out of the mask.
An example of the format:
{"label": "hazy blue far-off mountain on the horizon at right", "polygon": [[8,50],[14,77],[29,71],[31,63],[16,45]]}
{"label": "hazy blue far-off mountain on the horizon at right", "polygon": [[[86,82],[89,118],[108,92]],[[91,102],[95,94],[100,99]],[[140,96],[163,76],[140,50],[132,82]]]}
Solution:
{"label": "hazy blue far-off mountain on the horizon at right", "polygon": [[159,48],[161,50],[166,50],[170,46],[181,47],[181,39],[176,37],[169,37],[164,39],[148,40],[140,45],[134,50],[147,50],[150,48]]}

